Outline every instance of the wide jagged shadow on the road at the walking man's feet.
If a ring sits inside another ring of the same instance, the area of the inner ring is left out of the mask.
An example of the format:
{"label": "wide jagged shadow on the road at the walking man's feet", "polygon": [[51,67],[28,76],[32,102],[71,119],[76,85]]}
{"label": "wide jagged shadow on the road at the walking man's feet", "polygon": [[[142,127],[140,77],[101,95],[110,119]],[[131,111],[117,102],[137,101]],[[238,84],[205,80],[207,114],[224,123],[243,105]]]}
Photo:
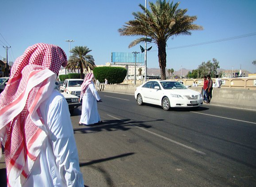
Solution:
{"label": "wide jagged shadow on the road at the walking man's feet", "polygon": [[74,128],[74,134],[76,133],[93,133],[100,131],[128,131],[133,126],[151,128],[151,125],[145,125],[145,123],[153,121],[163,121],[163,119],[150,120],[150,121],[130,121],[131,119],[113,119],[105,120],[97,125],[78,126]]}

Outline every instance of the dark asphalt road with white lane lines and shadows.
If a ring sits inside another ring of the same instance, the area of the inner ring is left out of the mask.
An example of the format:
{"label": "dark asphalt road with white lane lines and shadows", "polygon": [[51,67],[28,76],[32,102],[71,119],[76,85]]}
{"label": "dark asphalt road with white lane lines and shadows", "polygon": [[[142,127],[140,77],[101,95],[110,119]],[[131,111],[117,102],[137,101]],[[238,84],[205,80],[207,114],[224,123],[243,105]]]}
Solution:
{"label": "dark asphalt road with white lane lines and shadows", "polygon": [[71,115],[87,187],[256,187],[256,111],[99,95],[102,124],[78,126],[81,107]]}

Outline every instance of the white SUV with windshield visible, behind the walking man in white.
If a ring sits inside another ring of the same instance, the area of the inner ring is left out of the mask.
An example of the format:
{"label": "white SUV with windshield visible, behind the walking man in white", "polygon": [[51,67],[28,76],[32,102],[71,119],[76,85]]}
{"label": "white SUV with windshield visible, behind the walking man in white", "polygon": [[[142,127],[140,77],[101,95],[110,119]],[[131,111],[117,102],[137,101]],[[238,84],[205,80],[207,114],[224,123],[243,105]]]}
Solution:
{"label": "white SUV with windshield visible, behind the walking man in white", "polygon": [[60,87],[62,92],[80,97],[83,79],[66,79],[63,86]]}

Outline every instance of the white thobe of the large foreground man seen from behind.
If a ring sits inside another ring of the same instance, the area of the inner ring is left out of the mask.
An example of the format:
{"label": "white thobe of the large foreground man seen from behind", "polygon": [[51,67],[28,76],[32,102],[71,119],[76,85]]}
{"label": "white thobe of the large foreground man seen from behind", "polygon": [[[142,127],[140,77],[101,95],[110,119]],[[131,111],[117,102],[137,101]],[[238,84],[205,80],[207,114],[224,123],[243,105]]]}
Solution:
{"label": "white thobe of the large foreground man seen from behind", "polygon": [[54,90],[40,111],[48,138],[23,187],[84,187],[66,99]]}

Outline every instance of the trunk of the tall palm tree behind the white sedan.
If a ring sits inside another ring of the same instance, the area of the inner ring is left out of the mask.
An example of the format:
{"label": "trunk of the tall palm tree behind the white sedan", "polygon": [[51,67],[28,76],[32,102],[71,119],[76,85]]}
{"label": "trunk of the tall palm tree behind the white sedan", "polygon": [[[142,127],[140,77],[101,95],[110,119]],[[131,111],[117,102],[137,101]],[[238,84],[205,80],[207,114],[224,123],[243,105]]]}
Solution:
{"label": "trunk of the tall palm tree behind the white sedan", "polygon": [[160,42],[157,44],[158,46],[158,62],[160,68],[161,80],[166,80],[165,68],[166,68],[166,43]]}

